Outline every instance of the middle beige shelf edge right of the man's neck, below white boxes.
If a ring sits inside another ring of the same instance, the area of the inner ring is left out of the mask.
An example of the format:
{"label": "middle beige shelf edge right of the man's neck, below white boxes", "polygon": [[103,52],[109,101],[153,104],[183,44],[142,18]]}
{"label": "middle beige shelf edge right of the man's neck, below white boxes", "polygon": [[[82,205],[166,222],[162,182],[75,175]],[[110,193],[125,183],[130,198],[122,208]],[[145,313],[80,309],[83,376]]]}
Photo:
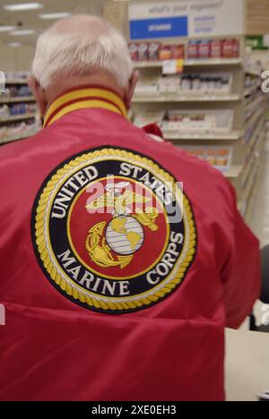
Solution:
{"label": "middle beige shelf edge right of the man's neck, below white boxes", "polygon": [[186,96],[184,93],[175,95],[159,95],[159,96],[134,96],[133,103],[165,103],[165,102],[174,102],[174,103],[181,103],[181,102],[238,102],[240,100],[240,95],[231,94],[225,96]]}

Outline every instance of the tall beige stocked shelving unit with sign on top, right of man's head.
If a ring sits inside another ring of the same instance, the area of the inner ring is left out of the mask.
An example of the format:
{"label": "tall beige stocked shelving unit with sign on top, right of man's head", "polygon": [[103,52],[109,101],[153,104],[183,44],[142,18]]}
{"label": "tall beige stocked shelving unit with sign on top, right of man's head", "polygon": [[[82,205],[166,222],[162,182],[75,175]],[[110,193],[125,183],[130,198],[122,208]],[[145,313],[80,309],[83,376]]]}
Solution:
{"label": "tall beige stocked shelving unit with sign on top, right of man's head", "polygon": [[[240,4],[239,2],[234,2],[239,4],[239,8],[241,8],[242,19],[239,16],[239,9],[235,6],[234,13],[238,16],[238,20],[234,19],[235,15],[230,14],[233,13],[233,9],[224,10],[225,4],[218,4],[220,8],[223,6],[222,13],[215,12],[213,7],[209,13],[214,15],[213,26],[206,19],[207,15],[205,16],[205,12],[199,11],[194,13],[194,8],[188,7],[189,3],[184,2],[184,12],[178,11],[178,19],[183,16],[187,17],[188,21],[187,31],[184,32],[186,37],[184,38],[182,36],[175,38],[176,30],[173,33],[172,30],[170,33],[167,32],[166,38],[161,38],[161,36],[166,36],[165,32],[161,30],[159,33],[157,30],[158,36],[155,33],[155,38],[153,35],[151,36],[151,20],[155,22],[156,19],[157,23],[166,22],[167,26],[169,24],[172,26],[169,18],[171,16],[175,18],[175,13],[171,13],[169,4],[166,8],[163,4],[163,8],[160,7],[158,9],[153,7],[153,4],[154,6],[156,5],[153,0],[152,2],[135,0],[135,3],[127,0],[125,2],[111,1],[105,4],[104,13],[105,17],[112,24],[123,31],[128,41],[132,42],[132,44],[135,42],[139,44],[144,43],[140,49],[135,49],[134,45],[132,46],[132,54],[136,59],[143,59],[143,56],[146,56],[145,43],[151,44],[148,56],[149,59],[152,59],[158,56],[158,52],[156,53],[157,43],[165,46],[184,45],[185,50],[187,50],[188,41],[191,41],[193,54],[195,41],[204,39],[202,44],[205,47],[203,46],[203,50],[199,49],[200,58],[187,58],[185,60],[183,64],[184,74],[230,73],[232,75],[232,85],[229,94],[224,94],[223,92],[222,95],[214,95],[212,91],[211,93],[204,91],[200,95],[196,91],[197,88],[194,88],[195,91],[187,93],[186,86],[182,87],[183,83],[181,87],[178,87],[178,84],[175,85],[175,91],[179,90],[178,93],[164,94],[160,83],[158,86],[159,91],[158,89],[157,91],[155,90],[156,81],[158,84],[164,69],[169,73],[172,72],[171,69],[177,68],[177,66],[179,68],[182,63],[174,63],[169,67],[169,65],[164,65],[161,61],[134,62],[134,68],[139,70],[144,81],[134,96],[132,109],[136,124],[143,126],[144,122],[145,124],[160,123],[165,140],[173,142],[177,147],[190,152],[195,149],[220,150],[223,148],[223,150],[230,150],[231,158],[227,158],[228,164],[223,165],[223,174],[235,186],[239,198],[239,209],[248,218],[251,212],[251,202],[255,200],[256,184],[263,160],[262,156],[267,131],[268,95],[262,93],[260,89],[262,67],[257,64],[258,61],[261,61],[260,56],[254,60],[247,56],[245,36],[269,33],[268,2],[266,3],[265,0],[244,0]],[[208,9],[210,6],[211,3],[209,2]],[[204,17],[204,21],[202,17]],[[146,27],[146,24],[144,24],[142,30],[141,22],[139,21],[147,22],[149,26]],[[225,28],[227,29],[226,33]],[[240,44],[239,56],[237,58],[206,58],[207,53],[204,51],[206,51],[207,41],[211,38],[217,41],[221,40],[221,42],[223,38],[238,39]],[[175,50],[180,51],[180,48],[176,47],[174,48]],[[162,48],[162,51],[164,51],[162,56],[173,56],[173,52],[169,54],[171,50],[168,47]],[[269,60],[267,59],[267,63],[264,66],[265,70],[269,68],[268,65]],[[148,79],[148,86],[144,89],[147,83],[146,79]],[[165,82],[164,85],[166,86]],[[201,113],[202,109],[203,113]],[[223,129],[219,131],[213,128],[207,129],[207,127],[218,125],[218,122],[214,125],[211,124],[212,120],[209,120],[209,118],[207,118],[206,123],[204,123],[202,118],[199,119],[199,112],[201,116],[204,115],[204,111],[208,111],[212,115],[213,113],[216,114],[216,112],[227,114],[228,110],[232,111],[234,116],[232,124],[228,124],[227,130],[224,129],[225,124],[220,124]],[[196,116],[192,117],[191,115],[195,115],[195,113],[197,113]],[[186,115],[187,117],[185,117]],[[200,120],[202,121],[201,124],[199,124]],[[197,122],[196,125],[194,121]],[[199,128],[197,128],[201,126],[203,126],[203,131],[202,129],[199,131]],[[168,127],[169,129],[167,129]],[[216,166],[219,165],[219,168],[221,167],[221,157],[213,160],[213,154],[209,151],[204,154],[202,152],[202,155],[212,164],[215,161]],[[219,156],[222,156],[221,152]],[[225,161],[224,158],[222,160]]]}

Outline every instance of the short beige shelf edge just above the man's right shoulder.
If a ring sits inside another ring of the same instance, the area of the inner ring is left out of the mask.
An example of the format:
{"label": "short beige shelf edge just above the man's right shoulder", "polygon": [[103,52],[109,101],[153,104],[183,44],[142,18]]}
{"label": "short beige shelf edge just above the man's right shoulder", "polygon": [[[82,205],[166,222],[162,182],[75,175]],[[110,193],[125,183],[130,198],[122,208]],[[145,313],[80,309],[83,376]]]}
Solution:
{"label": "short beige shelf edge just above the man's right shoulder", "polygon": [[232,131],[230,133],[177,133],[162,130],[165,140],[168,141],[238,141],[242,133]]}

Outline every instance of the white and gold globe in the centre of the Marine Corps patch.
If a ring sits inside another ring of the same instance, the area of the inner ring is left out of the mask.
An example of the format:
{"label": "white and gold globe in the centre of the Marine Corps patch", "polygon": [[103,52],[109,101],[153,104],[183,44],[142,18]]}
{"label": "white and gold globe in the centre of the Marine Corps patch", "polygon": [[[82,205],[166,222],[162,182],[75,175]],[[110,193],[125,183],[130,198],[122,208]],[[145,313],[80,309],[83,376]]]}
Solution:
{"label": "white and gold globe in the centre of the Marine Corps patch", "polygon": [[113,218],[108,224],[108,246],[117,254],[134,254],[143,245],[143,227],[134,217]]}

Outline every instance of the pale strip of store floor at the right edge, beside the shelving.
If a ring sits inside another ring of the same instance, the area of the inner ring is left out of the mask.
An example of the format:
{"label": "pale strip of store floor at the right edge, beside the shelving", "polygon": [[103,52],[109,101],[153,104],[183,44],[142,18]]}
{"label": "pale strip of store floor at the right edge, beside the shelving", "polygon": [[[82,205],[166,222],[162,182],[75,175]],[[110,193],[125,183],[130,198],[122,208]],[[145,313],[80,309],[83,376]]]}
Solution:
{"label": "pale strip of store floor at the right edge, beside the shelving", "polygon": [[269,139],[250,227],[261,241],[261,247],[269,244]]}

